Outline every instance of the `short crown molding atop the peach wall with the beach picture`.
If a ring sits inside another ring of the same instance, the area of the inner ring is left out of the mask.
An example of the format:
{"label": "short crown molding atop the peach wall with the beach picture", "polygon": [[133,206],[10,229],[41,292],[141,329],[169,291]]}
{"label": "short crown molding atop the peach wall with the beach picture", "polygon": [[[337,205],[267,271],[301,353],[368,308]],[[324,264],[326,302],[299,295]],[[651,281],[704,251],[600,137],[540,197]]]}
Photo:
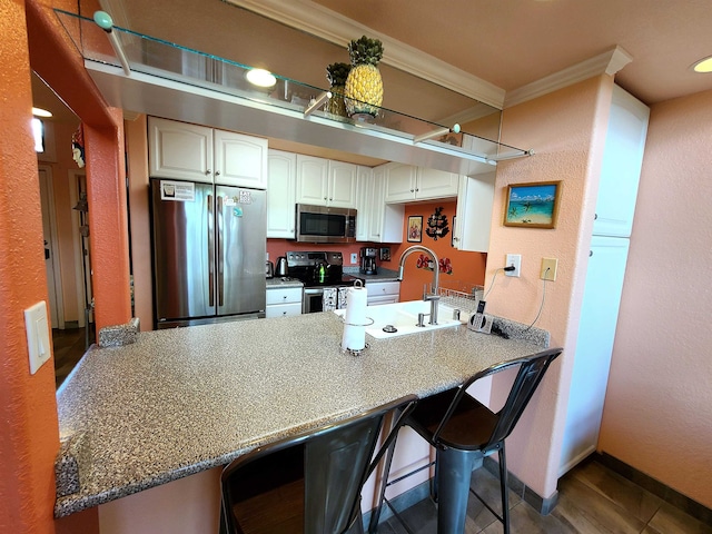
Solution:
{"label": "short crown molding atop the peach wall with the beach picture", "polygon": [[504,99],[504,108],[511,108],[517,103],[526,102],[554,92],[564,87],[573,86],[589,78],[600,75],[614,76],[623,67],[633,61],[633,57],[623,48],[616,46],[611,50],[600,53],[591,59],[573,65],[553,75],[541,78],[518,89],[507,91]]}

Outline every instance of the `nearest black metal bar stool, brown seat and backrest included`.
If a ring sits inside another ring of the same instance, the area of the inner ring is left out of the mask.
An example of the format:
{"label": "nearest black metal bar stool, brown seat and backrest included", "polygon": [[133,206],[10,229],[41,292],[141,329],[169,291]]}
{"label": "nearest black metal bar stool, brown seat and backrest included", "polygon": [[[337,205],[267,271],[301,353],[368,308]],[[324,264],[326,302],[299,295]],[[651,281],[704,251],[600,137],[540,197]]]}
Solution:
{"label": "nearest black metal bar stool, brown seat and backrest included", "polygon": [[[362,487],[416,402],[403,397],[233,461],[221,475],[227,532],[363,533]],[[397,414],[374,455],[387,416]]]}

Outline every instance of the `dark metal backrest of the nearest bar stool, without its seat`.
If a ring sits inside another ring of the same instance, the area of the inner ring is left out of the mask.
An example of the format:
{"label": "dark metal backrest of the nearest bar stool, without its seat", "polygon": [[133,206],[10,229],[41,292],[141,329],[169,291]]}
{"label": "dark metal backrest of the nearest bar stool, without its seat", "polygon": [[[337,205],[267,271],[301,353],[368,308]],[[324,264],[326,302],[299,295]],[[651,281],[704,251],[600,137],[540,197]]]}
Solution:
{"label": "dark metal backrest of the nearest bar stool, without its seat", "polygon": [[[304,517],[303,532],[363,532],[362,525],[355,524],[360,517],[362,487],[416,400],[414,395],[403,397],[333,425],[265,445],[233,461],[221,475],[228,532],[247,534],[233,512],[234,502],[245,498],[244,493],[259,493],[300,477],[304,510],[298,512]],[[402,416],[374,455],[386,418],[396,411]],[[277,506],[284,510],[287,505],[277,503]]]}

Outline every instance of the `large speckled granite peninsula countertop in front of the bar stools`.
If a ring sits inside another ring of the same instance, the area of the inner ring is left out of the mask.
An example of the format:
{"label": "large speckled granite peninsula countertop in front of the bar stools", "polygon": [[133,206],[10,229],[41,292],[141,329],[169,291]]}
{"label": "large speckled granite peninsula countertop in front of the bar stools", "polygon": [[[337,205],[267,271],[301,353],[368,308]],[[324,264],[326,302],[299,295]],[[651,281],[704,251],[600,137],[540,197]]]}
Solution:
{"label": "large speckled granite peninsula countertop in front of the bar stools", "polygon": [[465,326],[367,336],[369,346],[353,356],[340,350],[339,318],[320,313],[92,346],[57,393],[63,445],[55,515],[226,465],[261,444],[404,395],[432,395],[541,350],[548,335],[540,332],[544,338],[534,340]]}

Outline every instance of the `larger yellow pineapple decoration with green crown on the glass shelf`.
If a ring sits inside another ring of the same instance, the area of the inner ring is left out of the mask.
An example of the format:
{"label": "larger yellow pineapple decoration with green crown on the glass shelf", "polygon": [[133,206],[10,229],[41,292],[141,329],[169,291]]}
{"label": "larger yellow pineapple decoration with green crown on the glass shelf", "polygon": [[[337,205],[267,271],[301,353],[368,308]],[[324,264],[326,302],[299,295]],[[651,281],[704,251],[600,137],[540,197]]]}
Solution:
{"label": "larger yellow pineapple decoration with green crown on the glass shelf", "polygon": [[349,117],[378,112],[383,103],[383,81],[378,61],[383,58],[383,43],[363,36],[348,44],[352,70],[346,79],[346,111]]}

